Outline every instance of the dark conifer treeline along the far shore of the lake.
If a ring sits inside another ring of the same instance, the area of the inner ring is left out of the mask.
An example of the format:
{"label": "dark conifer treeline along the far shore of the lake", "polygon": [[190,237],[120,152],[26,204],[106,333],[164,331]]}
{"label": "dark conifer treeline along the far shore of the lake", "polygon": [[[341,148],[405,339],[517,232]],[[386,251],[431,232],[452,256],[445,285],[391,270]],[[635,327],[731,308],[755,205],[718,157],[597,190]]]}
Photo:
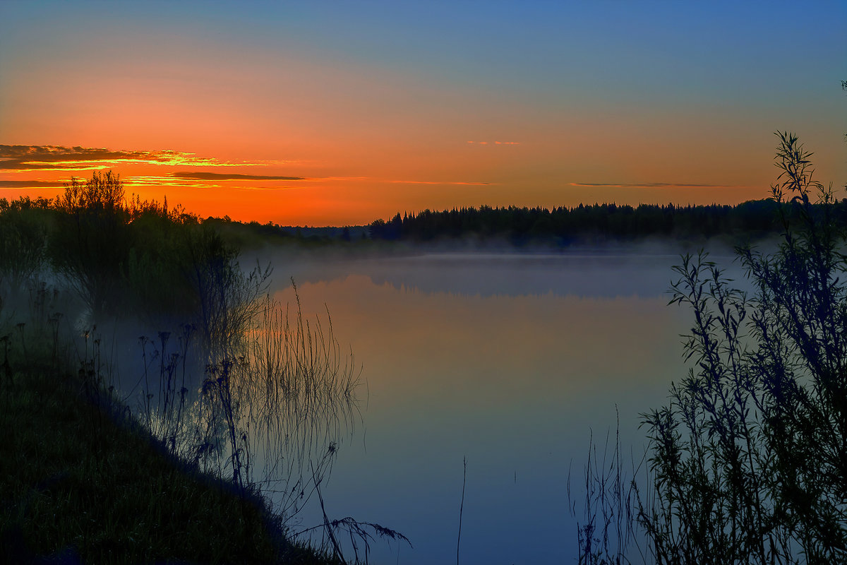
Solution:
{"label": "dark conifer treeline along the far shore of the lake", "polygon": [[[48,202],[27,205],[47,206]],[[0,200],[0,208],[3,201]],[[814,213],[822,213],[811,204]],[[833,202],[828,214],[839,224],[847,224],[847,198]],[[256,221],[239,222],[229,217],[199,219],[185,215],[194,224],[206,224],[236,246],[255,247],[268,243],[306,246],[384,246],[391,242],[439,245],[471,242],[480,245],[507,245],[516,248],[573,245],[602,245],[645,239],[702,242],[722,239],[730,245],[744,244],[778,236],[783,215],[794,221],[791,210],[780,211],[771,198],[750,200],[737,205],[706,206],[640,204],[637,207],[615,203],[580,204],[577,207],[452,208],[451,210],[396,213],[385,221],[367,225],[333,227],[287,226]]]}

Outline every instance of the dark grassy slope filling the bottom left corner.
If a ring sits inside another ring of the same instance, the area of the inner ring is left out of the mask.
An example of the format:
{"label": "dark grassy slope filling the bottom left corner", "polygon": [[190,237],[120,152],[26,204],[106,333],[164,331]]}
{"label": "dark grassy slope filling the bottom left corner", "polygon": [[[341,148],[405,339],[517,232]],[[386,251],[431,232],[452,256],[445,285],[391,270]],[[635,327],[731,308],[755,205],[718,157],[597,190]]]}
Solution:
{"label": "dark grassy slope filling the bottom left corner", "polygon": [[[106,395],[0,368],[0,546],[9,562],[327,563],[263,501],[168,455]],[[99,404],[99,406],[98,406]]]}

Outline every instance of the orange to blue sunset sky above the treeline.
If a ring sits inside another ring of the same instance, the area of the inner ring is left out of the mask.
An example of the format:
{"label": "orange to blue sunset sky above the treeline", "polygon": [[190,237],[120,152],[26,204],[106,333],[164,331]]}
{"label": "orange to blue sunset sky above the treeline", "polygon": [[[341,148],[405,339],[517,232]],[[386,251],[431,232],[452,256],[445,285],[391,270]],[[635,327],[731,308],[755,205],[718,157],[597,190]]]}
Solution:
{"label": "orange to blue sunset sky above the treeline", "polygon": [[283,225],[734,204],[768,196],[777,130],[844,186],[841,80],[843,0],[0,0],[0,197],[113,170]]}

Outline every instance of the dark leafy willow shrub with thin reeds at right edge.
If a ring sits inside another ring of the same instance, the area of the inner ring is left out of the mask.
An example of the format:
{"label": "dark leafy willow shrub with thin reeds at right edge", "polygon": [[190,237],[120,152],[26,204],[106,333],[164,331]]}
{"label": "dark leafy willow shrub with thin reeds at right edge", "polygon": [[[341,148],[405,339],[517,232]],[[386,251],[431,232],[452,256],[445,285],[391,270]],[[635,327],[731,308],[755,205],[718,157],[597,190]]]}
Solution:
{"label": "dark leafy willow shrub with thin reeds at right edge", "polygon": [[645,468],[592,450],[580,562],[847,562],[847,226],[810,157],[779,134],[781,244],[737,250],[755,291],[705,253],[674,269],[692,368],[644,415]]}

